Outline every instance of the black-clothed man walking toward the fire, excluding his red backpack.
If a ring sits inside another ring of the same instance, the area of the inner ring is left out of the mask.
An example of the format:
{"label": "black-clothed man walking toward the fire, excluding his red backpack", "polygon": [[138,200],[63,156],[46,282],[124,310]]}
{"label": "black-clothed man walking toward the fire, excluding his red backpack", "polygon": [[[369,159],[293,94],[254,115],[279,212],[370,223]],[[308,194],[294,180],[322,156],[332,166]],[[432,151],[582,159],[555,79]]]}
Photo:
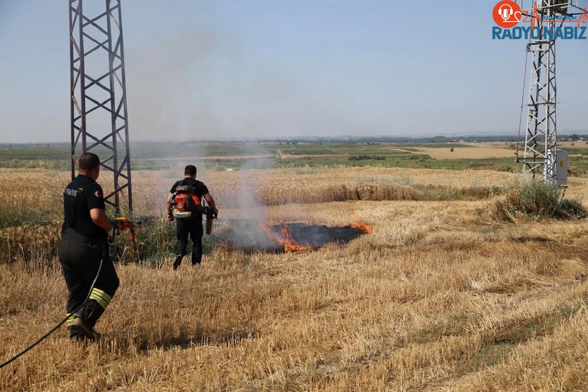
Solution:
{"label": "black-clothed man walking toward the fire, excluding his red backpack", "polygon": [[[167,208],[168,208],[168,220],[174,220],[172,214],[172,196],[173,192],[176,191],[178,186],[189,186],[192,188],[192,192],[194,195],[198,196],[201,200],[202,198],[206,200],[208,205],[212,207],[215,214],[218,214],[218,210],[216,209],[215,199],[212,198],[211,194],[208,192],[208,187],[204,185],[202,182],[196,180],[196,166],[188,165],[184,169],[184,176],[183,180],[179,180],[175,184],[173,184],[172,189],[169,191],[168,200],[167,200]],[[192,265],[198,265],[202,261],[202,214],[192,214],[191,217],[185,219],[176,219],[176,229],[177,229],[177,238],[178,238],[178,247],[176,251],[176,259],[173,262],[173,269],[176,270],[182,263],[182,259],[186,254],[186,245],[188,244],[188,234],[190,239],[192,240]]]}

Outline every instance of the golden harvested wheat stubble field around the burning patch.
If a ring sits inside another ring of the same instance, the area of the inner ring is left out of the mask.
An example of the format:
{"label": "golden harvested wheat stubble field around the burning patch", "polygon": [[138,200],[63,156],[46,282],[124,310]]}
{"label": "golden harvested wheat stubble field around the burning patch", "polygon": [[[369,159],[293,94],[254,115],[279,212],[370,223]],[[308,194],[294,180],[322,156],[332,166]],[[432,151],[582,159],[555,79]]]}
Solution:
{"label": "golden harvested wheat stubble field around the burning patch", "polygon": [[[175,273],[171,259],[162,269],[119,265],[101,342],[72,344],[62,329],[0,370],[0,390],[587,390],[588,222],[506,225],[476,213],[495,196],[472,189],[516,177],[367,167],[204,173],[222,219],[243,215],[232,195],[249,188],[272,224],[359,219],[373,232],[315,252],[216,249]],[[3,213],[31,216],[40,205],[38,219],[59,220],[66,173],[0,178]],[[39,186],[16,197],[25,179]],[[175,176],[135,179],[138,212],[157,215]],[[571,185],[574,196],[587,194],[588,180]],[[4,226],[1,359],[61,319],[66,299],[55,224]]]}

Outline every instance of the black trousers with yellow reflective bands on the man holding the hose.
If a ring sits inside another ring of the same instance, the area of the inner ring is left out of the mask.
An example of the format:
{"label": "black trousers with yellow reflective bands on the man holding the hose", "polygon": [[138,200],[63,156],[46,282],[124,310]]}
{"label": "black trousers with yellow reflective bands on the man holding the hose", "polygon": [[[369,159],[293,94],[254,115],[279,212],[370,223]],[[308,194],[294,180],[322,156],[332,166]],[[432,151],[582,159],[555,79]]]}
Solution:
{"label": "black trousers with yellow reflective bands on the man holding the hose", "polygon": [[[119,286],[119,279],[108,252],[108,244],[105,240],[93,241],[64,235],[59,243],[58,257],[69,290],[68,326],[72,326],[75,316],[80,317],[86,326],[93,328]],[[90,300],[74,314],[74,310],[88,297],[102,258],[102,269]],[[72,337],[78,334],[81,334],[81,331],[70,328]]]}

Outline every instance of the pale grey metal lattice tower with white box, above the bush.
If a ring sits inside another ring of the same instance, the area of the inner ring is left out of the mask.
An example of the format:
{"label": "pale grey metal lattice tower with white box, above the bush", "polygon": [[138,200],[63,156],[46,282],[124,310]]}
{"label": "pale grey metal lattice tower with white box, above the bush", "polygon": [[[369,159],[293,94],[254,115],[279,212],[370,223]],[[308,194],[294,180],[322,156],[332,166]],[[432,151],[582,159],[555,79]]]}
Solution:
{"label": "pale grey metal lattice tower with white box, above the bush", "polygon": [[545,182],[554,182],[557,177],[557,89],[556,89],[556,51],[555,39],[544,31],[556,25],[549,22],[554,16],[578,15],[570,13],[570,8],[580,9],[567,0],[537,0],[533,9],[523,11],[523,15],[533,20],[533,27],[539,28],[537,39],[527,44],[527,55],[532,56],[527,107],[524,155],[517,149],[517,162],[523,163],[523,173],[543,176]]}

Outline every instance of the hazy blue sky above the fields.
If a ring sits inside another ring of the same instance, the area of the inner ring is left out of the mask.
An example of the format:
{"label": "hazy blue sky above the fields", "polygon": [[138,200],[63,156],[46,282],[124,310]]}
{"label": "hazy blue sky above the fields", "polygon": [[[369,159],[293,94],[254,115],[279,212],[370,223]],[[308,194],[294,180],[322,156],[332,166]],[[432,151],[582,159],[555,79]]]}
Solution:
{"label": "hazy blue sky above the fields", "polygon": [[[131,138],[516,133],[495,2],[413,4],[123,0]],[[588,130],[588,41],[557,45],[559,130]],[[65,0],[0,0],[0,51],[0,142],[69,140]]]}

